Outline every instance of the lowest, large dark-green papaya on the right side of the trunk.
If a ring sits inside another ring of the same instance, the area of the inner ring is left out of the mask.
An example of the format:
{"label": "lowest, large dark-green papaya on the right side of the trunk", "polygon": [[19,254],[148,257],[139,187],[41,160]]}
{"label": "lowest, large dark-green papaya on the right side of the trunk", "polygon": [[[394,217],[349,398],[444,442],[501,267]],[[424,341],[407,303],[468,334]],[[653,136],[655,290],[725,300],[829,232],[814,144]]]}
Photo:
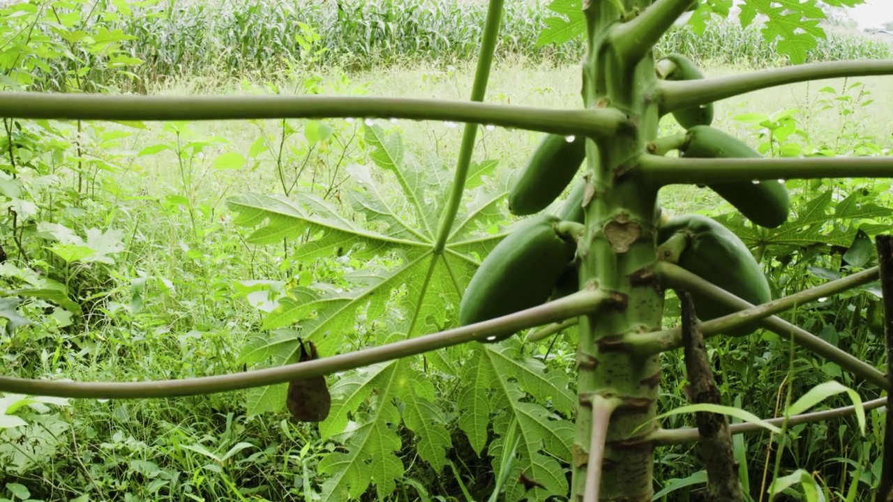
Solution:
{"label": "lowest, large dark-green papaya on the right side of the trunk", "polygon": [[[751,304],[761,305],[772,300],[772,290],[760,264],[734,232],[706,216],[682,214],[672,216],[657,230],[657,243],[661,245],[680,233],[688,242],[677,263],[681,268]],[[691,299],[701,321],[735,312],[708,297],[691,293]],[[753,322],[726,334],[743,336],[755,329]]]}

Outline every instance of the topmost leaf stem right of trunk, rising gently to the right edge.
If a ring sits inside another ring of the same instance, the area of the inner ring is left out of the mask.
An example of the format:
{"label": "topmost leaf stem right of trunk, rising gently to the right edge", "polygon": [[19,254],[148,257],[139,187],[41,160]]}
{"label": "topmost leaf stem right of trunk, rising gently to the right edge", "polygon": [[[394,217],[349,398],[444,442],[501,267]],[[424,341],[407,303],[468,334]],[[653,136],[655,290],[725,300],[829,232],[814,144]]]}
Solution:
{"label": "topmost leaf stem right of trunk, rising gently to the right edge", "polygon": [[891,74],[893,61],[890,60],[797,64],[716,79],[684,82],[662,80],[657,84],[654,98],[660,103],[661,115],[665,115],[691,106],[706,105],[728,97],[797,82]]}

